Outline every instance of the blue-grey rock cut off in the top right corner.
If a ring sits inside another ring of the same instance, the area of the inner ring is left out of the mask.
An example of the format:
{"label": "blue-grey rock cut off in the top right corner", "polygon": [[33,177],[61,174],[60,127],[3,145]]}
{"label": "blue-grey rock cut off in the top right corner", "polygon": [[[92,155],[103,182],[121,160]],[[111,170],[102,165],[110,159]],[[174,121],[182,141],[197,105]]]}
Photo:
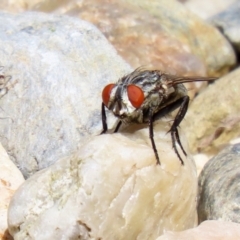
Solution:
{"label": "blue-grey rock cut off in the top right corner", "polygon": [[211,22],[220,29],[240,53],[240,2],[235,1],[228,9],[213,16]]}

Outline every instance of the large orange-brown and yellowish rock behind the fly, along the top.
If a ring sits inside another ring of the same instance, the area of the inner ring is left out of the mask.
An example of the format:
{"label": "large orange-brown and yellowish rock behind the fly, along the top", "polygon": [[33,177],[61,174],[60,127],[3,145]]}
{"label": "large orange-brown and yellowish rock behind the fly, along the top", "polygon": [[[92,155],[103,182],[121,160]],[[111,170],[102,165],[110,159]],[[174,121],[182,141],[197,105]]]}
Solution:
{"label": "large orange-brown and yellowish rock behind the fly, along the top", "polygon": [[[65,13],[92,22],[133,68],[219,76],[236,63],[232,47],[219,31],[175,0],[11,3],[13,7],[20,4],[19,9]],[[191,89],[194,87],[192,84]]]}

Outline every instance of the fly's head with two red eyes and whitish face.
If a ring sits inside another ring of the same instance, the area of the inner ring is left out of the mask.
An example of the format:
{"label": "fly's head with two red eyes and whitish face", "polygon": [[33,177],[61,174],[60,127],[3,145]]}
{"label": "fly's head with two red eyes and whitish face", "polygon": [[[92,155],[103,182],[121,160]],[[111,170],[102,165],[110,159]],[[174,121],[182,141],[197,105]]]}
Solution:
{"label": "fly's head with two red eyes and whitish face", "polygon": [[143,90],[134,84],[108,84],[102,91],[104,105],[123,122],[141,122]]}

